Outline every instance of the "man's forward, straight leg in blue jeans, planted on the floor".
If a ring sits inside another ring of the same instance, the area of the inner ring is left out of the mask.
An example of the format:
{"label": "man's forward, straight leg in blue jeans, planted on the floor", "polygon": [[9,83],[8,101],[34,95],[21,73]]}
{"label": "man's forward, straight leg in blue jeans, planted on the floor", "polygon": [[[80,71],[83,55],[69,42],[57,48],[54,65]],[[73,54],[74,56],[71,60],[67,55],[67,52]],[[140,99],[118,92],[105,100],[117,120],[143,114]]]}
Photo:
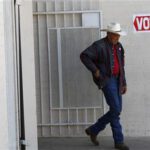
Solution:
{"label": "man's forward, straight leg in blue jeans, planted on the floor", "polygon": [[107,104],[110,108],[110,125],[112,128],[113,138],[115,143],[123,143],[124,137],[122,127],[120,124],[120,113],[122,111],[122,96],[119,93],[119,83],[116,78],[111,79],[109,84],[104,90],[104,95]]}

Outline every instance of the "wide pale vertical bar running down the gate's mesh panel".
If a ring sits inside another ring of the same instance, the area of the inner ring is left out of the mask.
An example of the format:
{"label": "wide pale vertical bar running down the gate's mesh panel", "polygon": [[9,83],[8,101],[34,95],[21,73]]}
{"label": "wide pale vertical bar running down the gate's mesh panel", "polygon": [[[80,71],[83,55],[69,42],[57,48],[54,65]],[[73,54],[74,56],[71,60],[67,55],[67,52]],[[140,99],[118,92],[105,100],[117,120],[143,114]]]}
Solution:
{"label": "wide pale vertical bar running down the gate's mesh panel", "polygon": [[61,29],[57,29],[58,75],[59,75],[59,105],[63,108],[63,83],[62,83],[62,54],[61,54]]}

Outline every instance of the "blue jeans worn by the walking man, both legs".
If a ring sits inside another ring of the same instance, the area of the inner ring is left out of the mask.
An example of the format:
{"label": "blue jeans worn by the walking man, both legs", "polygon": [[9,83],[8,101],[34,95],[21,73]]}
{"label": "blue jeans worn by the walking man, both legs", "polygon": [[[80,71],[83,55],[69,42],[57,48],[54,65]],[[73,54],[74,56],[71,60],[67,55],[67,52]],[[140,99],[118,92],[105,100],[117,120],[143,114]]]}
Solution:
{"label": "blue jeans worn by the walking man, both legs", "polygon": [[109,105],[109,111],[97,120],[95,124],[90,126],[93,134],[97,135],[104,130],[106,125],[110,123],[115,143],[123,143],[123,133],[120,124],[119,115],[122,110],[122,96],[119,94],[119,81],[116,77],[112,77],[107,85],[102,89],[106,102]]}

